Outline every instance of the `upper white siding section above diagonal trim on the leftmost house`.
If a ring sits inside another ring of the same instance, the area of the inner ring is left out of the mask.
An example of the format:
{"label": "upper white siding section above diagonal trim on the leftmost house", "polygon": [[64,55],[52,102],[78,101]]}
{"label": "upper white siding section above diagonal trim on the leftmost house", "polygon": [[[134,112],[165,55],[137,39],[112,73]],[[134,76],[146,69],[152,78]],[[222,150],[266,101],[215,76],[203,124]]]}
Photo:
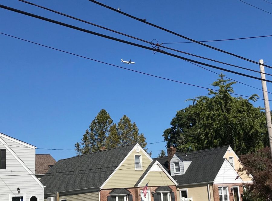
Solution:
{"label": "upper white siding section above diagonal trim on the leftmost house", "polygon": [[35,174],[35,148],[29,148],[12,140],[2,137],[24,164]]}

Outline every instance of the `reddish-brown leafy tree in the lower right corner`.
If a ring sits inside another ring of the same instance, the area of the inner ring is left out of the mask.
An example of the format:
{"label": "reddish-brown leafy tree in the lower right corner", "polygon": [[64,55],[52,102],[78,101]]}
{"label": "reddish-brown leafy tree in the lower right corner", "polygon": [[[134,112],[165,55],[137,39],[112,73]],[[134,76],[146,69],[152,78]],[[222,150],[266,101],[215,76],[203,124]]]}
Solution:
{"label": "reddish-brown leafy tree in the lower right corner", "polygon": [[272,162],[270,148],[240,156],[243,167],[238,171],[253,176],[253,183],[246,186],[245,201],[272,200]]}

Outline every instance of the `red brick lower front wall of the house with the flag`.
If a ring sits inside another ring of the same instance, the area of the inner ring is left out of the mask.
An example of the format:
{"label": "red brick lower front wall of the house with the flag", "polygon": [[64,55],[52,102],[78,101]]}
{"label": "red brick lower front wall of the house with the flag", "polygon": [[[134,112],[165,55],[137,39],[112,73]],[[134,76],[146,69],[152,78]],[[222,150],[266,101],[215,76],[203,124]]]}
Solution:
{"label": "red brick lower front wall of the house with the flag", "polygon": [[[176,186],[169,186],[172,189],[172,192],[175,194],[175,200],[176,198]],[[151,192],[154,192],[157,187],[148,187],[147,190],[150,190]],[[137,187],[137,188],[126,188],[130,191],[130,194],[133,196],[133,201],[141,201],[141,190],[143,190],[143,187]],[[113,189],[106,189],[106,190],[100,190],[100,201],[107,201],[107,196],[109,196],[109,192],[111,192]],[[154,201],[153,196],[151,194],[151,201]]]}

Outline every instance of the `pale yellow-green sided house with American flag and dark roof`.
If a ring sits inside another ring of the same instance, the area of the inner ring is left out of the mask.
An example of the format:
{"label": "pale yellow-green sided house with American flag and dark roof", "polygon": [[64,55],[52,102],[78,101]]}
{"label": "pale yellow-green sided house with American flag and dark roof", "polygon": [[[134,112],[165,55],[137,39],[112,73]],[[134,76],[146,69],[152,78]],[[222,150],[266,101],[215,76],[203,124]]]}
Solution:
{"label": "pale yellow-green sided house with American flag and dark roof", "polygon": [[177,200],[176,181],[138,143],[59,160],[40,181],[45,201]]}

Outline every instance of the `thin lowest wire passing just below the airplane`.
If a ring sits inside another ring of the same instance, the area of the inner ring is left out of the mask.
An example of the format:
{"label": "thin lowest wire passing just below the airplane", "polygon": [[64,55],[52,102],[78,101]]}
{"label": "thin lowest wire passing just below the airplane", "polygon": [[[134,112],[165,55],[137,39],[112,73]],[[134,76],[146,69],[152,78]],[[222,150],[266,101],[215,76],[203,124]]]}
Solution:
{"label": "thin lowest wire passing just below the airplane", "polygon": [[[16,39],[19,39],[19,40],[23,40],[23,41],[26,41],[26,42],[29,42],[29,43],[33,43],[33,44],[36,44],[36,45],[39,45],[39,46],[43,46],[43,47],[47,47],[47,48],[50,48],[50,49],[54,49],[54,50],[57,50],[57,51],[60,51],[60,52],[63,52],[63,53],[70,54],[70,55],[79,56],[79,57],[84,58],[84,59],[89,59],[89,60],[96,61],[96,62],[99,62],[99,63],[111,65],[111,66],[114,66],[114,67],[117,67],[117,68],[120,68],[120,69],[125,69],[125,70],[131,71],[131,72],[137,72],[137,73],[140,73],[140,74],[143,74],[143,75],[148,75],[148,76],[151,76],[151,77],[160,78],[160,79],[164,79],[164,80],[168,80],[168,81],[173,81],[173,82],[177,82],[177,83],[185,84],[185,85],[190,85],[190,86],[194,86],[194,87],[199,87],[199,88],[203,88],[203,89],[208,89],[208,90],[213,90],[213,91],[219,91],[217,89],[211,89],[211,88],[207,88],[207,87],[193,85],[193,84],[189,84],[189,83],[186,83],[186,82],[181,82],[181,81],[177,81],[177,80],[173,80],[173,79],[169,79],[169,78],[164,78],[164,77],[160,77],[160,76],[157,76],[157,75],[152,75],[152,74],[141,72],[141,71],[136,71],[136,70],[128,69],[128,68],[121,67],[121,66],[114,65],[114,64],[110,64],[110,63],[107,63],[107,62],[102,62],[102,61],[99,61],[99,60],[96,60],[96,59],[91,59],[91,58],[86,57],[86,56],[81,56],[81,55],[70,53],[70,52],[67,52],[67,51],[64,51],[64,50],[61,50],[61,49],[57,49],[57,48],[53,48],[53,47],[50,47],[50,46],[46,46],[46,45],[43,45],[43,44],[40,44],[40,43],[35,43],[35,42],[30,41],[30,40],[25,40],[25,39],[22,39],[22,38],[19,38],[19,37],[15,37],[15,36],[12,36],[12,35],[9,35],[9,34],[4,34],[4,33],[1,33],[1,32],[0,32],[0,34],[6,35],[6,36],[9,36],[9,37],[13,37],[13,38],[16,38]],[[233,94],[233,95],[237,95],[237,96],[243,96],[243,97],[251,97],[251,96],[245,96],[245,95],[235,94],[235,93],[229,93],[229,94]],[[263,98],[257,98],[257,97],[256,97],[256,99],[264,100]],[[268,100],[268,101],[271,101],[271,100]]]}

